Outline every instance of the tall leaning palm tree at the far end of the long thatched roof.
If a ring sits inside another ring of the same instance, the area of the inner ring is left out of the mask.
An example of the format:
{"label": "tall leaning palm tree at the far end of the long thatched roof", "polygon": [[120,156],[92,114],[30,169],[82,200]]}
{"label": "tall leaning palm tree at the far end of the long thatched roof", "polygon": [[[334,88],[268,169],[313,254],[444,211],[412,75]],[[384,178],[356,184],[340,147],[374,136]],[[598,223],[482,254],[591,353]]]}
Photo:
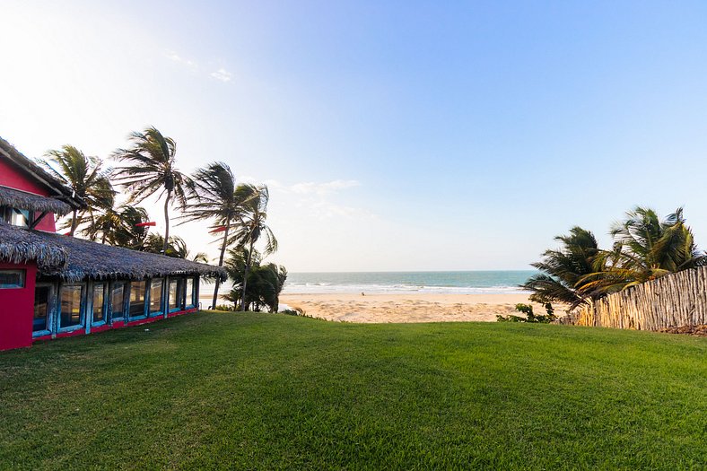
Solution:
{"label": "tall leaning palm tree at the far end of the long thatched roof", "polygon": [[[194,173],[189,183],[189,203],[184,208],[184,222],[213,220],[213,229],[223,231],[219,266],[229,242],[231,228],[240,221],[244,202],[252,196],[247,186],[236,187],[231,168],[223,162],[213,162]],[[216,278],[212,309],[216,308],[221,280]]]}

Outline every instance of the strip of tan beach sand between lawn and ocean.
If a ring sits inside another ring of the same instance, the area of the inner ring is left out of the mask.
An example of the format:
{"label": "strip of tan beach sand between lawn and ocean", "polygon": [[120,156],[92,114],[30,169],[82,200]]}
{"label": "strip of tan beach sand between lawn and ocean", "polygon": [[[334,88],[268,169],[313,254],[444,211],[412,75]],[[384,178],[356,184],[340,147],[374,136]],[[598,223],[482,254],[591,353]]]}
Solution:
{"label": "strip of tan beach sand between lawn and ocean", "polygon": [[[440,293],[330,293],[281,294],[280,302],[301,308],[305,315],[346,322],[495,322],[496,315],[521,315],[519,302],[531,304],[536,314],[542,305],[528,301],[527,294],[440,294]],[[556,315],[562,314],[555,310]]]}

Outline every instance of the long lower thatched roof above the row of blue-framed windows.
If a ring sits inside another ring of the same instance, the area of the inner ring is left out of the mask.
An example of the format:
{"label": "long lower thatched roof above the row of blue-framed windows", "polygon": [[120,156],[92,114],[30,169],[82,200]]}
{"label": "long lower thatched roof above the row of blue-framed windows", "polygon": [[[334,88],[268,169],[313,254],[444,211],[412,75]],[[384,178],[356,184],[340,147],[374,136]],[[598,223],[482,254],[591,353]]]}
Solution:
{"label": "long lower thatched roof above the row of blue-framed windows", "polygon": [[[64,264],[57,263],[65,254]],[[138,252],[60,234],[0,223],[0,260],[36,260],[40,275],[65,281],[142,279],[165,275],[206,275],[226,279],[218,266]]]}

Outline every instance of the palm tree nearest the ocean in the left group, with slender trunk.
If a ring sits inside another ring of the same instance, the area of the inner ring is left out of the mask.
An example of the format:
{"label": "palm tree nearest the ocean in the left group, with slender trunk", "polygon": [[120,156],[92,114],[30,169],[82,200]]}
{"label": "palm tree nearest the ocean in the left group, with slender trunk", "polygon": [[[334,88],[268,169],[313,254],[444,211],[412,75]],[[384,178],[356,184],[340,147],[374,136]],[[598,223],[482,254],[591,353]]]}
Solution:
{"label": "palm tree nearest the ocean in the left group, with slender trunk", "polygon": [[248,274],[251,266],[251,254],[258,240],[265,240],[265,247],[262,250],[263,257],[266,257],[277,250],[277,240],[275,234],[266,224],[267,203],[270,194],[265,185],[243,185],[243,213],[240,222],[236,227],[231,240],[238,243],[240,247],[248,249],[246,259],[245,274],[243,275],[243,296],[240,301],[240,310],[246,310],[246,292],[248,284]]}

